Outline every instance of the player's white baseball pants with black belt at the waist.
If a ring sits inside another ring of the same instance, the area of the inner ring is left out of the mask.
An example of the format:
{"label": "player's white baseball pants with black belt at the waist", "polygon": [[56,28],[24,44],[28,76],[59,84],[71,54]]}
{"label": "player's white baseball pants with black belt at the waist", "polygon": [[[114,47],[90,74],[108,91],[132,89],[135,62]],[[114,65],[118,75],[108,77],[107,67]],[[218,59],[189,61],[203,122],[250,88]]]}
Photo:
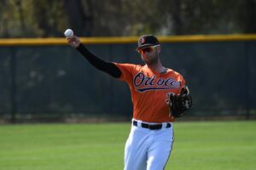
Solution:
{"label": "player's white baseball pants with black belt at the waist", "polygon": [[162,123],[158,130],[148,128],[155,124],[132,120],[131,133],[125,144],[124,170],[165,169],[172,151],[172,123]]}

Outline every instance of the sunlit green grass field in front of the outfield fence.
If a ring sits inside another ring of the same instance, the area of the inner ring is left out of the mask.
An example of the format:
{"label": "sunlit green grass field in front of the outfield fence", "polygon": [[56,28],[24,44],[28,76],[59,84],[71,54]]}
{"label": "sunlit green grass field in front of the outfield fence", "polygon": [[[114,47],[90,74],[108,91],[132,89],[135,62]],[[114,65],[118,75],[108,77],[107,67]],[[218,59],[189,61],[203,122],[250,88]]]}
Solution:
{"label": "sunlit green grass field in front of the outfield fence", "polygon": [[[0,126],[1,170],[120,170],[130,123]],[[166,170],[253,170],[256,122],[175,122]]]}

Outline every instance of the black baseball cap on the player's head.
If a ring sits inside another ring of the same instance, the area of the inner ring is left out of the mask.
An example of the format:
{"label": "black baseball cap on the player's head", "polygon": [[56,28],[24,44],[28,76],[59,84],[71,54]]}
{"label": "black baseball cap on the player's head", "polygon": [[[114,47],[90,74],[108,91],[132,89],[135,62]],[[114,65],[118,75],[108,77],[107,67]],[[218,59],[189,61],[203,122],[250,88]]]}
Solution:
{"label": "black baseball cap on the player's head", "polygon": [[156,37],[154,37],[152,35],[143,35],[137,41],[136,50],[138,50],[140,48],[146,48],[148,46],[154,46],[154,45],[159,45],[159,41]]}

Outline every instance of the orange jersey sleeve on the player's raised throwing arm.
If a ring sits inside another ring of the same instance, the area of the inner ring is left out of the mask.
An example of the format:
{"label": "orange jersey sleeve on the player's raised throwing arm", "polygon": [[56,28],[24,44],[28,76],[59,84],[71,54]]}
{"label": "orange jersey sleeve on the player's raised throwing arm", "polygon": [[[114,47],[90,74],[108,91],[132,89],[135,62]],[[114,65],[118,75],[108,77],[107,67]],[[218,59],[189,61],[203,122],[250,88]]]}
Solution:
{"label": "orange jersey sleeve on the player's raised throwing arm", "polygon": [[121,76],[119,77],[120,81],[132,82],[132,77],[133,77],[132,73],[135,70],[136,65],[120,64],[120,63],[113,63],[113,64],[116,65],[121,71]]}

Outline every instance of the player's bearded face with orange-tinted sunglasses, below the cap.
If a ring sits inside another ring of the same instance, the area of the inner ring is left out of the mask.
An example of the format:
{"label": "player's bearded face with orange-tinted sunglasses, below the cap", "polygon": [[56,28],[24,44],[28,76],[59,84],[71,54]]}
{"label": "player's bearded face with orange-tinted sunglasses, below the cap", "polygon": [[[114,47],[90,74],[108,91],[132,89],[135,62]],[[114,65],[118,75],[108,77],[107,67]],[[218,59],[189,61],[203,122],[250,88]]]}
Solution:
{"label": "player's bearded face with orange-tinted sunglasses, below the cap", "polygon": [[143,61],[147,65],[154,64],[159,59],[159,51],[158,51],[159,45],[156,46],[150,46],[147,48],[142,48],[138,50],[138,52],[141,54]]}

